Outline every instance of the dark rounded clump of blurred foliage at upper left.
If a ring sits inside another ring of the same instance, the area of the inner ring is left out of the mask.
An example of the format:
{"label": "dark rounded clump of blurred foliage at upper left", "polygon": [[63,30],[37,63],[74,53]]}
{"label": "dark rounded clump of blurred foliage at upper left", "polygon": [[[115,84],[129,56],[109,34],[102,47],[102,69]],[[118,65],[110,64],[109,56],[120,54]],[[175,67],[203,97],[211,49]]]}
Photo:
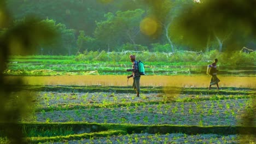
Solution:
{"label": "dark rounded clump of blurred foliage at upper left", "polygon": [[3,32],[3,38],[9,47],[10,55],[32,55],[36,47],[55,42],[54,38],[57,35],[52,22],[41,21],[31,16],[24,17],[20,21],[14,21],[13,26],[8,27]]}

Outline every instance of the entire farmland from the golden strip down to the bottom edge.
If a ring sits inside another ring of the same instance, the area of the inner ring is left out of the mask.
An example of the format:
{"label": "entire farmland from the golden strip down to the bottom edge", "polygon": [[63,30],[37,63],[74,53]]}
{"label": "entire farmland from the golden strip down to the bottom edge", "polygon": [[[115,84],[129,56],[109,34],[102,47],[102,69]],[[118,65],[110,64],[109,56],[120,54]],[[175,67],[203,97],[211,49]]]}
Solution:
{"label": "entire farmland from the golden strip down to the bottom edge", "polygon": [[206,74],[144,75],[140,97],[127,72],[22,73],[6,77],[23,80],[13,93],[33,95],[32,113],[19,123],[29,143],[256,142],[253,73],[218,75],[218,91],[208,90]]}

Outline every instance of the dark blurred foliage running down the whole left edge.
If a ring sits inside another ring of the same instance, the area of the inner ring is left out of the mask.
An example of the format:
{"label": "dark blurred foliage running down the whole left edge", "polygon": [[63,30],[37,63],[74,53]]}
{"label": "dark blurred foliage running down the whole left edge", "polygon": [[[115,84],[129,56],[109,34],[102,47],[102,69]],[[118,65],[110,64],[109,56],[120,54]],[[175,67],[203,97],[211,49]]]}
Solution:
{"label": "dark blurred foliage running down the whole left edge", "polygon": [[31,55],[35,47],[50,43],[57,34],[48,23],[35,17],[13,21],[5,6],[5,1],[0,1],[0,134],[10,143],[26,143],[18,123],[31,112],[34,95],[18,88],[22,85],[21,79],[3,76],[5,62],[9,55],[16,53]]}

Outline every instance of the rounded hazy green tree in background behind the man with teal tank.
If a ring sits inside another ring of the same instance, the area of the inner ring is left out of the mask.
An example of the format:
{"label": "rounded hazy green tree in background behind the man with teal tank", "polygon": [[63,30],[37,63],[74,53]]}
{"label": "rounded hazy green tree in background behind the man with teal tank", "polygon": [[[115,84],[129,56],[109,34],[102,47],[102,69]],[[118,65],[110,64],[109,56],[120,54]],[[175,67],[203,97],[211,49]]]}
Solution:
{"label": "rounded hazy green tree in background behind the man with teal tank", "polygon": [[[136,37],[139,34],[139,22],[142,20],[144,11],[141,9],[117,11],[117,13],[108,13],[106,20],[97,22],[95,29],[95,38],[106,44],[106,50],[113,51],[113,47],[120,44],[131,43],[133,50],[137,50]],[[120,51],[120,50],[119,50]]]}

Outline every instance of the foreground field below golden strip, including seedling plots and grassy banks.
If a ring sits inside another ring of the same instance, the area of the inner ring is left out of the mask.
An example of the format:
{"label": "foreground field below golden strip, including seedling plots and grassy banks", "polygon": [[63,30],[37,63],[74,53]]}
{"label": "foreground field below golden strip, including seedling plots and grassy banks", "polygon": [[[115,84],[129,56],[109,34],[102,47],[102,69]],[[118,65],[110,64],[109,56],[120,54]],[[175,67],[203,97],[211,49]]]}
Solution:
{"label": "foreground field below golden strip, including seedling plots and grassy banks", "polygon": [[139,98],[122,86],[20,88],[34,94],[32,115],[20,119],[31,143],[238,143],[238,129],[256,123],[253,88],[147,86]]}

